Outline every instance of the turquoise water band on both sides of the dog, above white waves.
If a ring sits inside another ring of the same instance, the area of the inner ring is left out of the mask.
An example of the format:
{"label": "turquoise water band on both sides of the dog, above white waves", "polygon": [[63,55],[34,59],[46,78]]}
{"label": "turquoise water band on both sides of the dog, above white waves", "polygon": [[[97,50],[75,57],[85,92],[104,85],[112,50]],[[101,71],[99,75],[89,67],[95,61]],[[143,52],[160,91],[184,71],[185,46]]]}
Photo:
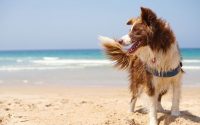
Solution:
{"label": "turquoise water band on both sides of the dog, above white waves", "polygon": [[[200,59],[200,48],[181,49],[183,59]],[[20,50],[20,51],[0,51],[0,58],[43,58],[59,57],[69,59],[105,59],[102,50]]]}

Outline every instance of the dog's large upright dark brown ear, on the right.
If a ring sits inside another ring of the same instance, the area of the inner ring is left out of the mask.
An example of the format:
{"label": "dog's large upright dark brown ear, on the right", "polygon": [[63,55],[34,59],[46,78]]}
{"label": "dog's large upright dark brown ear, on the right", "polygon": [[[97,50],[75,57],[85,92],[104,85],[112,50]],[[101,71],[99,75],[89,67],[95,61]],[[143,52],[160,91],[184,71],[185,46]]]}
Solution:
{"label": "dog's large upright dark brown ear, on the right", "polygon": [[141,7],[141,18],[148,26],[154,25],[157,20],[156,14],[151,9],[144,7]]}

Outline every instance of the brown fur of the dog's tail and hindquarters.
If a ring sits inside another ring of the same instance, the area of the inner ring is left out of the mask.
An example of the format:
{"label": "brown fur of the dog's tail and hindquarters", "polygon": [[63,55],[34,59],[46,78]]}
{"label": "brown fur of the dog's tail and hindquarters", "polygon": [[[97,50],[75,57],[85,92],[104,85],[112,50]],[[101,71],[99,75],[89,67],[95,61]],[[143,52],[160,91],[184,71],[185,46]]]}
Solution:
{"label": "brown fur of the dog's tail and hindquarters", "polygon": [[118,42],[104,42],[103,47],[109,59],[115,61],[115,67],[128,69],[132,99],[137,97],[140,87],[149,96],[154,95],[154,87],[151,84],[152,74],[146,71],[145,64],[137,56],[128,55]]}

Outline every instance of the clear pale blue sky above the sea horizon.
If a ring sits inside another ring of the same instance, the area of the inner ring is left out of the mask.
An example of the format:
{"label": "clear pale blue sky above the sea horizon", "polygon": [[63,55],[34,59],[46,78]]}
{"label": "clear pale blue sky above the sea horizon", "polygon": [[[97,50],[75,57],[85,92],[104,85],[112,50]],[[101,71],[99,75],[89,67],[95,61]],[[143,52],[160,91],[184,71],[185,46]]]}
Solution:
{"label": "clear pale blue sky above the sea horizon", "polygon": [[181,48],[200,48],[200,0],[0,0],[0,50],[99,49],[98,36],[127,34],[151,8]]}

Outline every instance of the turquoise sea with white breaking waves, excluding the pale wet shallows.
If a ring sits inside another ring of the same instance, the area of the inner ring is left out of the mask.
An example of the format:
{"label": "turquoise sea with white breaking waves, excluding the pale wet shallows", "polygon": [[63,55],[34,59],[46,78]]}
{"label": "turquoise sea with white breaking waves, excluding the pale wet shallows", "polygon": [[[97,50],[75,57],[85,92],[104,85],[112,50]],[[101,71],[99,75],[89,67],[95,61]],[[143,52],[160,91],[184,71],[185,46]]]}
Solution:
{"label": "turquoise sea with white breaking waves, excluding the pale wet shallows", "polygon": [[[200,49],[181,49],[186,69],[200,70]],[[0,70],[85,68],[110,65],[102,50],[0,51]]]}

